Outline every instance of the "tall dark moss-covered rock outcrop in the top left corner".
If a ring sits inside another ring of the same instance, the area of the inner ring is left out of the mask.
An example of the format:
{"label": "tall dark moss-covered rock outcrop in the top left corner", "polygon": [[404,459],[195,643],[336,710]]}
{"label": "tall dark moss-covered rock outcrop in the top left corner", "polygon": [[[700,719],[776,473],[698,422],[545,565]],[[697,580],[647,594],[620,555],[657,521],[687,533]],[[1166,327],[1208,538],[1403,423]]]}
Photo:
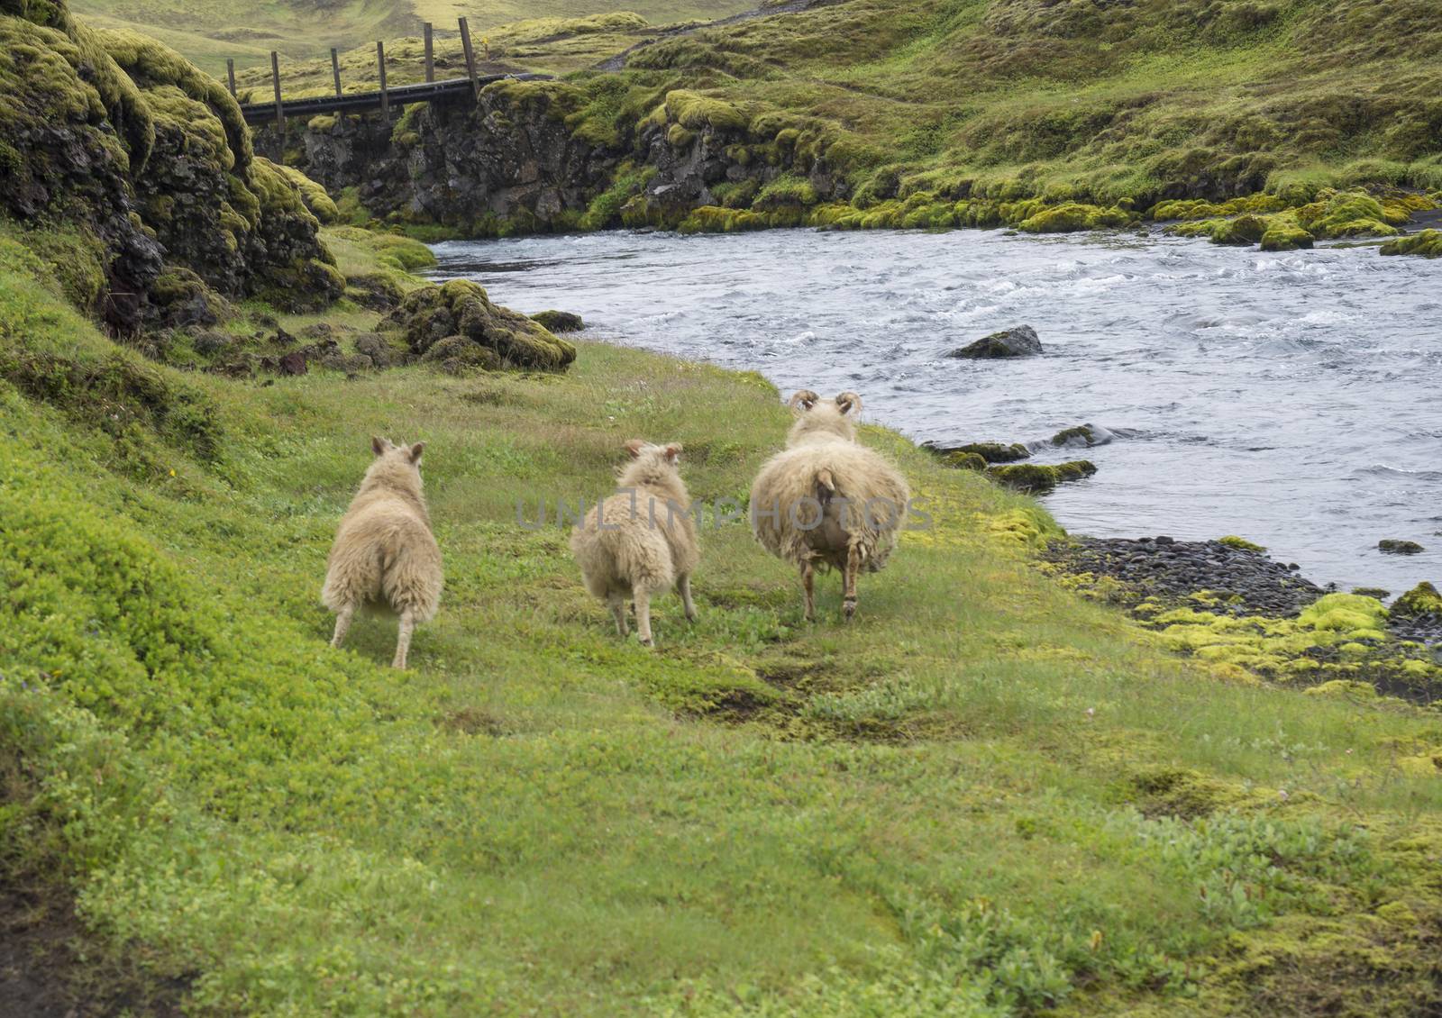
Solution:
{"label": "tall dark moss-covered rock outcrop in the top left corner", "polygon": [[66,238],[56,273],[117,332],[213,320],[218,296],[343,288],[239,107],[160,43],[0,0],[0,219],[50,254]]}

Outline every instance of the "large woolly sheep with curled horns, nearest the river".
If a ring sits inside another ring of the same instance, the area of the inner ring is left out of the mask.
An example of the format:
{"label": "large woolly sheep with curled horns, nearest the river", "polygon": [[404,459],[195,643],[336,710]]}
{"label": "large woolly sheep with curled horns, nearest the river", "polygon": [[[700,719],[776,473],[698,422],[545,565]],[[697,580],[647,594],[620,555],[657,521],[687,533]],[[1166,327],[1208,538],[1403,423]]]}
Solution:
{"label": "large woolly sheep with curled horns, nearest the river", "polygon": [[777,558],[800,568],[806,620],[816,617],[816,567],[844,574],[842,613],[857,613],[857,572],[885,565],[906,519],[906,479],[857,443],[861,397],[823,401],[810,389],[790,398],[797,414],[786,450],[751,484],[751,532]]}

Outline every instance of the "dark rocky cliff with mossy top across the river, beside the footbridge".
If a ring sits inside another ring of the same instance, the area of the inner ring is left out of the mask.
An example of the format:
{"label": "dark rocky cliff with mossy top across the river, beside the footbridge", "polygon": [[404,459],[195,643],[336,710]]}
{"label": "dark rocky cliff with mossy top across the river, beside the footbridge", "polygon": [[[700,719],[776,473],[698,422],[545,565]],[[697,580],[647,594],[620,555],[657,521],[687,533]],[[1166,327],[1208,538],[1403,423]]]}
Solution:
{"label": "dark rocky cliff with mossy top across the river, beside the footbridge", "polygon": [[[371,215],[470,235],[676,226],[701,206],[750,208],[767,187],[776,208],[848,193],[823,160],[779,146],[777,125],[757,134],[730,104],[672,92],[627,121],[594,114],[594,98],[562,82],[499,82],[479,102],[410,107],[394,124],[316,117],[284,149]],[[260,144],[280,149],[268,131]]]}

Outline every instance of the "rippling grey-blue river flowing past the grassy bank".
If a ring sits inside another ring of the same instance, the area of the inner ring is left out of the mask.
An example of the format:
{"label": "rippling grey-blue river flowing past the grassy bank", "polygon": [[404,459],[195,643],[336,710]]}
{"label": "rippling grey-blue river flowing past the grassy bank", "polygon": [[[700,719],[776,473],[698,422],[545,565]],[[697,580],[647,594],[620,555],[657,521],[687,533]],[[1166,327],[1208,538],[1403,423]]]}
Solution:
{"label": "rippling grey-blue river flowing past the grassy bank", "polygon": [[[999,232],[607,232],[435,247],[590,336],[855,389],[917,440],[1116,434],[1045,503],[1100,536],[1239,534],[1318,583],[1442,581],[1442,261]],[[1030,324],[1024,360],[947,350]],[[665,437],[665,435],[660,435]],[[780,440],[780,435],[777,435]],[[1377,551],[1405,538],[1422,555]]]}

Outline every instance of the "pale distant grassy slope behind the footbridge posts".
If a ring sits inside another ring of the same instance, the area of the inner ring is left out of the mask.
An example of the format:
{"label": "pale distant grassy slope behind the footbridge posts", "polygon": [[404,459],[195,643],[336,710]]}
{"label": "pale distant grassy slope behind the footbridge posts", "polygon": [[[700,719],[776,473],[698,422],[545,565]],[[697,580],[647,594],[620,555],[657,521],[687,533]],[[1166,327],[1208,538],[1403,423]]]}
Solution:
{"label": "pale distant grassy slope behind the footbridge posts", "polygon": [[[751,6],[748,0],[637,0],[626,9],[663,25],[725,17]],[[218,76],[225,74],[226,58],[234,58],[236,68],[262,66],[268,74],[273,49],[281,53],[283,62],[324,58],[332,46],[342,50],[369,46],[373,56],[376,39],[418,35],[423,22],[431,22],[438,37],[459,39],[456,19],[460,16],[469,19],[472,32],[485,36],[513,22],[580,19],[611,10],[588,0],[485,4],[473,0],[346,0],[339,4],[76,0],[71,7],[97,27],[133,29],[160,39]],[[601,56],[616,50],[607,49]]]}

